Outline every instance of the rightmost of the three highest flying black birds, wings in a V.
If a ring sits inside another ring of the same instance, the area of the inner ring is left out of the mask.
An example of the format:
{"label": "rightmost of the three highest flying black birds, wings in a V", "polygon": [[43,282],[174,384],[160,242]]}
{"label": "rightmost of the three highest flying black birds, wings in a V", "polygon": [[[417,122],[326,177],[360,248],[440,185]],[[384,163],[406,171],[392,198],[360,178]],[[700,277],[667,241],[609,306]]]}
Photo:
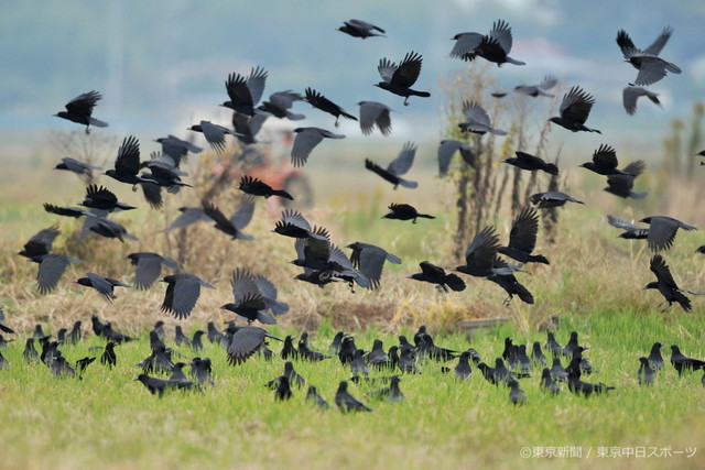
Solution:
{"label": "rightmost of the three highest flying black birds, wings in a V", "polygon": [[661,35],[649,47],[641,51],[637,48],[625,30],[620,30],[617,33],[617,45],[619,45],[626,62],[631,63],[639,70],[634,85],[652,85],[665,77],[666,72],[672,74],[682,72],[675,64],[659,57],[671,34],[673,34],[673,29],[670,26],[664,28]]}

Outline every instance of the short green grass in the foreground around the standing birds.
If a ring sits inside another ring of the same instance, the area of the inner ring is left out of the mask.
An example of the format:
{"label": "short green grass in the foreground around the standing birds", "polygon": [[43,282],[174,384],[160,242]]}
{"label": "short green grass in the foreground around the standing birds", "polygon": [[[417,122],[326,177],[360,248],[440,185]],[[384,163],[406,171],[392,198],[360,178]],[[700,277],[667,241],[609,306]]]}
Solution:
{"label": "short green grass in the foreground around the standing birds", "polygon": [[[572,329],[581,332],[581,343],[590,347],[586,356],[598,371],[587,380],[615,385],[609,396],[585,400],[567,390],[556,397],[545,396],[539,390],[540,373],[534,372],[521,382],[529,402],[517,407],[509,403],[506,389],[484,381],[478,370],[459,383],[429,362],[422,374],[403,378],[403,404],[370,402],[375,412],[359,415],[343,415],[335,407],[314,409],[304,402],[303,390],[294,391],[290,402],[275,402],[263,383],[281,373],[279,358],[272,362],[256,358],[234,368],[226,363],[220,347],[208,343],[200,356],[213,359],[216,386],[203,393],[174,392],[160,400],[132,381],[139,372],[132,364],[149,352],[145,334],[118,348],[115,370],[95,363],[83,381],[56,379],[43,364],[25,364],[21,341],[15,341],[3,351],[11,369],[0,372],[2,467],[516,468],[551,463],[557,468],[702,468],[701,374],[681,379],[668,365],[654,386],[636,382],[637,358],[647,354],[653,341],[677,343],[686,354],[705,357],[698,340],[704,334],[699,318],[670,321],[659,314],[629,310],[567,315],[557,330],[558,341],[564,343]],[[327,349],[332,331],[329,325],[322,326],[313,339],[316,349]],[[378,335],[369,329],[357,336],[357,342],[369,348]],[[516,342],[545,339],[544,334],[523,335],[507,325],[480,334],[471,343],[460,335],[441,336],[437,342],[456,349],[473,346],[490,362],[501,354],[502,340],[509,335]],[[171,342],[171,330],[167,338]],[[394,342],[393,337],[382,338],[386,346]],[[91,336],[63,350],[76,360],[101,345]],[[185,360],[194,356],[186,348],[176,351]],[[668,361],[668,346],[663,353]],[[338,382],[350,375],[337,359],[295,365],[332,404]],[[361,398],[368,390],[351,386]],[[583,457],[520,457],[524,447],[562,446],[579,448]],[[696,451],[690,459],[677,453],[598,457],[600,447],[640,446]]]}

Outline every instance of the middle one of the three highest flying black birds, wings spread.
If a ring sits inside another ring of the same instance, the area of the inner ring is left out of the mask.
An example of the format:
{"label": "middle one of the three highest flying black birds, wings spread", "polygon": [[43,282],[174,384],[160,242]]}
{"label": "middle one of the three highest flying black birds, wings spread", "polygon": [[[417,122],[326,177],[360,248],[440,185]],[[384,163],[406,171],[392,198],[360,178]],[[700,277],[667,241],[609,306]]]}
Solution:
{"label": "middle one of the three highest flying black birds, wings spread", "polygon": [[[523,62],[509,57],[512,46],[511,28],[503,20],[497,20],[492,24],[489,34],[459,33],[453,36],[455,45],[451,51],[451,57],[473,61],[480,56],[486,61],[494,62],[498,66],[509,63],[513,65],[527,65]],[[550,88],[550,87],[549,87]]]}

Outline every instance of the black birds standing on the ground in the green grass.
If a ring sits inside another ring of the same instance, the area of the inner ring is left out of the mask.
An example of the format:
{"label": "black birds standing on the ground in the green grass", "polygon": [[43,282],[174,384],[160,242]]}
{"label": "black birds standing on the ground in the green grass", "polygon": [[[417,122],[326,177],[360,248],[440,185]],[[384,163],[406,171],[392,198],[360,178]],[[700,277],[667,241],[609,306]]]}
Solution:
{"label": "black birds standing on the ground in the green grass", "polygon": [[[238,273],[241,275],[241,271]],[[4,315],[0,310],[0,330],[6,334],[14,334],[12,328],[4,325]],[[106,346],[99,356],[99,362],[111,370],[118,364],[116,347],[134,338],[123,335],[112,329],[110,323],[102,323],[96,315],[91,317],[93,332],[106,340]],[[413,343],[405,336],[399,336],[399,345],[391,346],[387,351],[382,340],[375,339],[369,350],[358,348],[355,337],[350,334],[338,331],[327,353],[312,349],[308,342],[308,334],[304,331],[299,338],[297,346],[295,337],[289,335],[283,340],[268,335],[261,328],[238,327],[235,323],[229,323],[228,327],[220,331],[213,321],[208,323],[207,330],[198,329],[193,338],[188,338],[181,326],[176,325],[174,330],[174,345],[172,348],[166,345],[166,332],[164,321],[156,321],[154,328],[150,330],[150,354],[134,367],[141,368],[142,373],[135,381],[140,381],[152,394],[160,397],[169,390],[198,390],[204,391],[204,386],[216,386],[213,375],[213,362],[209,358],[194,357],[188,362],[174,361],[173,357],[184,357],[186,350],[193,353],[204,351],[203,338],[223,347],[228,352],[229,362],[238,364],[247,361],[253,354],[259,354],[264,361],[273,361],[274,352],[269,348],[267,339],[282,341],[282,349],[279,353],[284,362],[284,370],[281,375],[270,380],[264,386],[274,392],[275,400],[286,401],[293,397],[294,390],[308,385],[305,401],[319,408],[328,408],[328,402],[321,395],[318,389],[304,379],[294,368],[294,362],[322,362],[326,360],[340,361],[341,367],[351,374],[347,380],[340,381],[335,394],[335,404],[341,412],[371,412],[372,408],[352,396],[348,391],[348,383],[357,384],[360,390],[369,390],[366,396],[379,398],[386,402],[402,402],[404,394],[400,387],[402,375],[421,374],[424,369],[434,369],[434,363],[447,363],[456,361],[453,365],[440,367],[440,372],[454,375],[457,381],[467,381],[474,374],[474,368],[479,370],[482,378],[491,385],[505,385],[509,389],[509,401],[514,405],[522,405],[527,402],[527,393],[520,386],[520,380],[530,379],[532,372],[541,370],[540,390],[551,395],[562,393],[562,384],[566,384],[570,392],[575,395],[589,397],[615,390],[614,386],[601,382],[593,383],[583,380],[586,375],[592,375],[595,371],[589,359],[584,356],[589,348],[578,343],[578,334],[572,331],[568,342],[562,347],[555,334],[551,330],[546,334],[546,342],[541,345],[534,341],[531,346],[531,353],[528,352],[527,345],[514,345],[513,339],[505,339],[501,357],[495,359],[495,367],[490,367],[482,361],[480,353],[475,348],[464,351],[451,350],[436,346],[433,337],[425,326],[419,328],[413,336]],[[41,325],[36,325],[34,332],[26,339],[23,358],[30,363],[43,362],[48,370],[57,378],[83,379],[86,369],[98,359],[96,357],[85,357],[75,362],[75,367],[64,358],[59,347],[73,346],[84,340],[82,332],[82,321],[74,324],[70,331],[67,328],[58,330],[56,340],[52,340],[51,335],[45,335]],[[8,342],[0,335],[0,370],[10,367],[8,360],[2,356],[1,350]],[[41,345],[41,352],[35,348],[35,341]],[[639,358],[639,369],[637,370],[637,382],[639,385],[653,385],[655,378],[663,374],[664,360],[661,356],[662,345],[654,342],[648,357]],[[91,348],[97,350],[99,348]],[[547,354],[552,357],[549,361]],[[567,361],[564,368],[561,361]],[[705,361],[685,357],[676,345],[671,346],[670,362],[679,376],[685,372],[703,370]],[[184,372],[185,367],[189,367],[189,376]],[[375,373],[379,375],[373,376]],[[384,375],[387,373],[387,375]],[[151,374],[151,375],[150,375]],[[161,375],[161,376],[155,376]],[[705,386],[705,374],[702,378]],[[381,385],[381,386],[380,386]]]}

